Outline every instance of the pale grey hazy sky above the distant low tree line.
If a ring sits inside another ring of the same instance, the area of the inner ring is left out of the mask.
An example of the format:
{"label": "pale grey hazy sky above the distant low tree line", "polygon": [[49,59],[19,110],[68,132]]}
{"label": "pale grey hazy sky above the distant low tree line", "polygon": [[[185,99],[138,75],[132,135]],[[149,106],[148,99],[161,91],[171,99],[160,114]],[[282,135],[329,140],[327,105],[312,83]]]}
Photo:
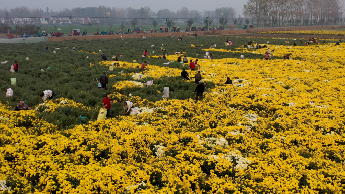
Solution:
{"label": "pale grey hazy sky above the distant low tree line", "polygon": [[246,3],[245,0],[170,0],[170,1],[157,1],[157,0],[83,0],[83,1],[73,1],[73,0],[30,0],[30,1],[6,1],[1,0],[1,7],[12,8],[19,6],[26,6],[27,8],[42,8],[49,7],[53,11],[59,11],[63,8],[75,8],[75,7],[98,7],[99,5],[104,5],[106,7],[117,7],[117,8],[141,8],[144,6],[149,6],[152,11],[157,12],[159,9],[168,8],[172,11],[179,10],[181,7],[187,7],[190,10],[214,10],[219,7],[233,7],[236,9],[236,13],[242,14],[243,5]]}

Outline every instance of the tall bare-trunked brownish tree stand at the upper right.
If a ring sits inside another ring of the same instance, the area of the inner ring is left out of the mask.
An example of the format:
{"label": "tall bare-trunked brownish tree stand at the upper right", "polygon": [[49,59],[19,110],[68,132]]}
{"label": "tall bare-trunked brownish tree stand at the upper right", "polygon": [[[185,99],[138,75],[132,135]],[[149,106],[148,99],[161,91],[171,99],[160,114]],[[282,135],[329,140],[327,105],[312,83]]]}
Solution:
{"label": "tall bare-trunked brownish tree stand at the upper right", "polygon": [[247,0],[243,14],[258,25],[334,25],[343,21],[342,0]]}

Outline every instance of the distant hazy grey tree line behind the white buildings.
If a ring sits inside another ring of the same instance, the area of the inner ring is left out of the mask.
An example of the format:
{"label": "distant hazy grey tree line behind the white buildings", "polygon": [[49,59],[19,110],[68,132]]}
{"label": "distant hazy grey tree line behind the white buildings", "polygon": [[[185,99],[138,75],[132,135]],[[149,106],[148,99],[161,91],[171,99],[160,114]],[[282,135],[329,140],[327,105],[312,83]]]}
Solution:
{"label": "distant hazy grey tree line behind the white buildings", "polygon": [[[166,18],[173,20],[187,20],[194,19],[194,22],[202,22],[204,18],[233,18],[236,16],[236,11],[232,7],[221,7],[215,10],[190,10],[187,7],[182,7],[177,11],[170,9],[160,9],[154,12],[149,6],[142,7],[140,9],[129,8],[117,8],[117,7],[86,7],[86,8],[72,8],[62,9],[59,11],[52,11],[49,7],[44,10],[41,8],[29,9],[26,6],[15,7],[11,9],[0,9],[0,17],[5,18],[23,18],[23,17],[62,17],[62,16],[79,16],[79,17],[97,17],[103,22],[104,13],[110,13],[110,16],[106,16],[106,22],[108,23],[122,23],[129,22],[133,18],[137,18],[142,24],[151,23],[152,19],[157,19],[159,23],[165,22]],[[141,21],[140,21],[141,20]]]}

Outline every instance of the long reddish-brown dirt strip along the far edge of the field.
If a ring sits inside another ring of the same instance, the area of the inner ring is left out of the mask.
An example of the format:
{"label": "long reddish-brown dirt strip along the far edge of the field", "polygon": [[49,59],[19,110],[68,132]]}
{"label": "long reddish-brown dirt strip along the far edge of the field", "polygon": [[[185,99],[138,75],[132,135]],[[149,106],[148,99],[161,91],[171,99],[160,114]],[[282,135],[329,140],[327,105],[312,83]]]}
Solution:
{"label": "long reddish-brown dirt strip along the far edge of the field", "polygon": [[[287,27],[286,30],[321,30],[321,29],[331,29],[331,28],[345,28],[345,26],[307,26],[307,27]],[[297,35],[297,34],[253,34],[256,32],[267,32],[267,31],[284,31],[285,28],[259,28],[259,29],[237,29],[237,30],[217,30],[217,31],[199,31],[199,36],[250,36],[250,37],[262,37],[262,38],[309,38],[313,36],[318,39],[340,39],[343,36],[338,35]],[[97,40],[97,39],[114,39],[114,38],[143,38],[145,37],[163,37],[171,34],[174,37],[181,35],[194,36],[191,32],[168,32],[168,33],[146,33],[146,34],[122,34],[122,35],[96,35],[96,36],[74,36],[70,37],[48,37],[49,41],[68,41],[68,40]]]}

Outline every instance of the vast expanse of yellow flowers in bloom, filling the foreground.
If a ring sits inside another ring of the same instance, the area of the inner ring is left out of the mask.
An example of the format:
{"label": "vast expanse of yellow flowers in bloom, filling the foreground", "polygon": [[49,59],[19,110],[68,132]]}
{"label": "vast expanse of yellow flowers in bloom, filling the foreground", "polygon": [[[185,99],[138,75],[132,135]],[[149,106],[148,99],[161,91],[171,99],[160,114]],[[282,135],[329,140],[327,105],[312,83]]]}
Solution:
{"label": "vast expanse of yellow flowers in bloom, filling the foreground", "polygon": [[180,76],[171,65],[121,73],[135,81],[116,82],[110,98],[135,102],[138,116],[56,131],[37,111],[90,107],[65,98],[29,111],[0,104],[0,193],[344,193],[345,46],[268,47],[277,59],[199,59],[203,101],[124,95],[144,78]]}

